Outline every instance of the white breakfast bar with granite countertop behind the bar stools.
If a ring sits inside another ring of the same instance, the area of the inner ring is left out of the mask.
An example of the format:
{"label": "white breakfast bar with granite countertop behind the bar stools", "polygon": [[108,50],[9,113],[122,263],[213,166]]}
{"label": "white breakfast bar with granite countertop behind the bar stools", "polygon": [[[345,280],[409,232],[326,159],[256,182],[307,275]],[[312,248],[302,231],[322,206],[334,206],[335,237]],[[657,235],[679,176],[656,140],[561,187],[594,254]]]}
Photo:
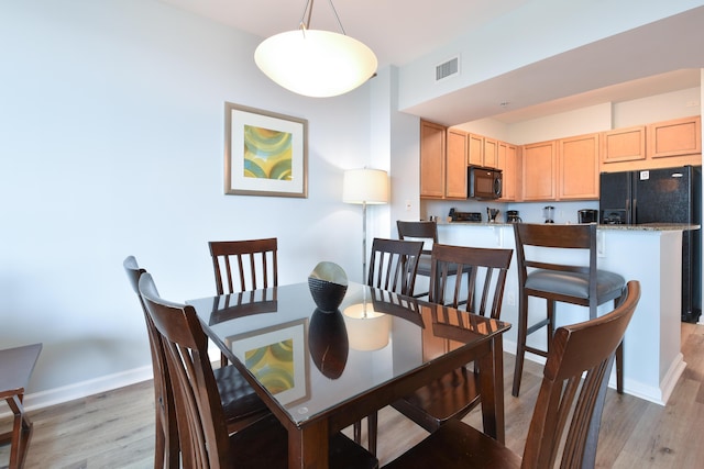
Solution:
{"label": "white breakfast bar with granite countertop behind the bar stools", "polygon": [[[624,339],[625,392],[661,405],[668,402],[686,366],[680,345],[682,233],[698,227],[646,224],[600,225],[597,230],[598,268],[620,273],[626,280],[639,280],[642,287],[640,303]],[[438,239],[464,246],[515,248],[514,230],[509,223],[443,223],[438,225]],[[575,254],[574,264],[579,261]],[[506,280],[503,321],[517,323],[517,272],[513,261]],[[610,308],[610,304],[603,304],[598,314],[608,312]],[[565,303],[558,305],[557,326],[587,319],[585,308]],[[514,330],[506,334],[506,351],[515,353],[515,334]],[[531,336],[529,340],[544,347],[544,343],[540,343],[544,342],[542,334]],[[543,361],[542,357],[530,354],[526,357]],[[615,387],[615,373],[609,386]]]}

